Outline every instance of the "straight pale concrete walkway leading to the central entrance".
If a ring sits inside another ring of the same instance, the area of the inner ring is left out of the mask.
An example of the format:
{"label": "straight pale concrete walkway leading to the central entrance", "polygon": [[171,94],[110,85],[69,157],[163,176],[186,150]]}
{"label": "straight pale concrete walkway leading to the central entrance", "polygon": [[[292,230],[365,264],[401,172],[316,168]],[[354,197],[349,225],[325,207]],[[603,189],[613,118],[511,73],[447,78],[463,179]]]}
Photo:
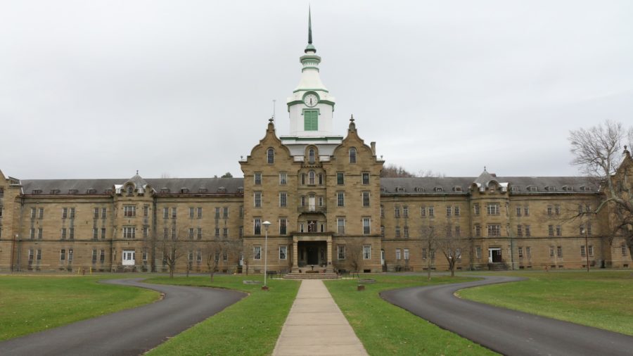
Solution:
{"label": "straight pale concrete walkway leading to the central entrance", "polygon": [[273,355],[367,355],[323,281],[301,282]]}

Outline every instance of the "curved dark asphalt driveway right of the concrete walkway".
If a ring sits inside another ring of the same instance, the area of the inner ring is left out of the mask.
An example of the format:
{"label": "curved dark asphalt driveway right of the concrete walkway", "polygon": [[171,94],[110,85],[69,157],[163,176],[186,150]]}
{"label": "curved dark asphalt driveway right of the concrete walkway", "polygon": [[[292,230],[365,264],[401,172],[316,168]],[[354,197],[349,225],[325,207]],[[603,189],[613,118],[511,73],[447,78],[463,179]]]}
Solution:
{"label": "curved dark asphalt driveway right of the concrete walkway", "polygon": [[521,280],[482,277],[481,281],[386,291],[381,297],[504,355],[632,355],[632,336],[454,296],[463,288]]}

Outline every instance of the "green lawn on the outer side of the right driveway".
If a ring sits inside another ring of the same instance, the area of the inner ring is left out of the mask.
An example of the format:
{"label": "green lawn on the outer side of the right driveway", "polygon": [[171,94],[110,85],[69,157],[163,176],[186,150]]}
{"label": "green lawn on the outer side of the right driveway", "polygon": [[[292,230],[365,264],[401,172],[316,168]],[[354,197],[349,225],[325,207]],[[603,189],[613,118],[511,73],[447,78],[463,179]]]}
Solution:
{"label": "green lawn on the outer side of the right driveway", "polygon": [[513,272],[520,281],[459,291],[461,298],[633,336],[630,271]]}

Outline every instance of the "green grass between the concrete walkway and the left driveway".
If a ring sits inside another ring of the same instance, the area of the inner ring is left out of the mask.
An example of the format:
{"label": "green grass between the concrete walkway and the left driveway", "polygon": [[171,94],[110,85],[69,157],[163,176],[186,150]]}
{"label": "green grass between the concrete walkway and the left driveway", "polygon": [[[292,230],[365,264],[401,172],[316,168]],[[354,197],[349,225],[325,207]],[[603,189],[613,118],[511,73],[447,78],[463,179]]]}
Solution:
{"label": "green grass between the concrete walkway and the left driveway", "polygon": [[215,316],[179,333],[149,352],[151,355],[270,355],[299,291],[298,281],[268,280],[270,290],[243,280],[262,276],[156,277],[148,283],[213,286],[250,293]]}

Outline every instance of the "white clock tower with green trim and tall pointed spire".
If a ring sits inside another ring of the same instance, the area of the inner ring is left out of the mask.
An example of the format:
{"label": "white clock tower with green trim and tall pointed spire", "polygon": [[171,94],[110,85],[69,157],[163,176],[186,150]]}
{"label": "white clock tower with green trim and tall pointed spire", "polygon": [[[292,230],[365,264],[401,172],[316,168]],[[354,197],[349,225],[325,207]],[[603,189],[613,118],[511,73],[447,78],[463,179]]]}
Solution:
{"label": "white clock tower with green trim and tall pointed spire", "polygon": [[[290,114],[290,136],[282,136],[283,141],[295,141],[301,138],[324,141],[333,139],[332,117],[334,97],[321,82],[316,48],[312,45],[312,16],[308,12],[308,44],[305,55],[299,58],[302,65],[299,85],[288,98]],[[338,136],[337,136],[338,137]],[[329,139],[328,139],[329,138]]]}

